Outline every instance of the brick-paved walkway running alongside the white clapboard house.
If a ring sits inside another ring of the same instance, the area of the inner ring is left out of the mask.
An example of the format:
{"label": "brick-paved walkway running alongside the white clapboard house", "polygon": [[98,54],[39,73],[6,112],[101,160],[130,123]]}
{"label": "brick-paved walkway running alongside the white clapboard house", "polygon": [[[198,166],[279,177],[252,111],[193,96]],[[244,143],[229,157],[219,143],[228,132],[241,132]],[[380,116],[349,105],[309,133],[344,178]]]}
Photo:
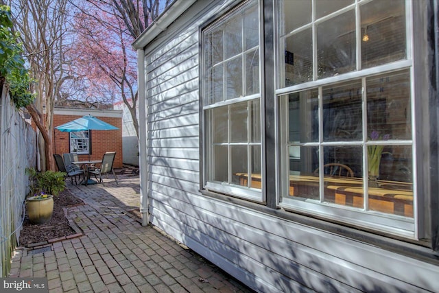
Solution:
{"label": "brick-paved walkway running alongside the white clapboard house", "polygon": [[47,277],[49,292],[252,292],[200,255],[128,211],[139,207],[139,176],[69,190],[85,204],[68,217],[83,235],[16,250],[10,277]]}

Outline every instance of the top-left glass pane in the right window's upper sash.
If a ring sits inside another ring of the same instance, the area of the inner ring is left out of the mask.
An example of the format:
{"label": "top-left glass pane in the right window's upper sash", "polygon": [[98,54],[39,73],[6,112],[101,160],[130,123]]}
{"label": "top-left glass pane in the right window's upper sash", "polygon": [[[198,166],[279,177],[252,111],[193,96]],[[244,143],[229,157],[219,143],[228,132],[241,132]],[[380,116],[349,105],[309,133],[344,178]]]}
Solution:
{"label": "top-left glass pane in the right window's upper sash", "polygon": [[302,25],[311,23],[312,1],[279,1],[280,12],[279,32],[281,36],[292,32]]}

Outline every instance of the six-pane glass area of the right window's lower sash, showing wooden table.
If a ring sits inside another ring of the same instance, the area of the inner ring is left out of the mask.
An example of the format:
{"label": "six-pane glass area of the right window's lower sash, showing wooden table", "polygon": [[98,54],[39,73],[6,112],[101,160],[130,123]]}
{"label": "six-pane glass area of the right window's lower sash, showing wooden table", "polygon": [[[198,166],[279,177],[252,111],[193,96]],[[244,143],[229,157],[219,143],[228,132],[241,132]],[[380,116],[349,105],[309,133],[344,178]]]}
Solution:
{"label": "six-pane glass area of the right window's lower sash, showing wooden table", "polygon": [[280,105],[288,106],[287,198],[413,217],[408,69],[290,93]]}

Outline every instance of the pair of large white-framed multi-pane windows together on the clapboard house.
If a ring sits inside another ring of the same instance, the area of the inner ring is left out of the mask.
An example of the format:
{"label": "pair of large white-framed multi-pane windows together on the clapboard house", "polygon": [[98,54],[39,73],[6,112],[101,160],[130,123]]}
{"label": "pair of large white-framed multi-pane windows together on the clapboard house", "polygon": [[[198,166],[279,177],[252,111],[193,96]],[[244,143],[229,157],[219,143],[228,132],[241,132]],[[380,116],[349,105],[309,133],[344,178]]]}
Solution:
{"label": "pair of large white-framed multi-pane windows together on the clapboard house", "polygon": [[427,23],[415,3],[243,1],[202,28],[202,188],[431,237],[420,164],[431,152],[430,73],[414,54],[428,48],[413,33]]}

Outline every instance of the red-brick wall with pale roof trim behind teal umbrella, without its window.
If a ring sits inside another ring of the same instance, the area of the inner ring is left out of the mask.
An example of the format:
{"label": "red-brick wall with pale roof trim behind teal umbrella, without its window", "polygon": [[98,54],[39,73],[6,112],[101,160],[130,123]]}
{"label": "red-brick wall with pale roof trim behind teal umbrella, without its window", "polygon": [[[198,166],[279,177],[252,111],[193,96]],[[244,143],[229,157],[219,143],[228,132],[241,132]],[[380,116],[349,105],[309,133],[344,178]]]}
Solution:
{"label": "red-brick wall with pale roof trim behind teal umbrella, without its window", "polygon": [[[100,160],[105,152],[116,152],[113,167],[121,168],[123,162],[122,152],[122,113],[117,110],[89,110],[89,109],[61,109],[54,110],[54,128],[64,123],[78,119],[84,115],[95,116],[102,121],[116,126],[118,130],[91,130],[91,160]],[[69,132],[54,129],[52,133],[54,154],[69,152]],[[80,154],[80,160],[88,160],[88,154]]]}

